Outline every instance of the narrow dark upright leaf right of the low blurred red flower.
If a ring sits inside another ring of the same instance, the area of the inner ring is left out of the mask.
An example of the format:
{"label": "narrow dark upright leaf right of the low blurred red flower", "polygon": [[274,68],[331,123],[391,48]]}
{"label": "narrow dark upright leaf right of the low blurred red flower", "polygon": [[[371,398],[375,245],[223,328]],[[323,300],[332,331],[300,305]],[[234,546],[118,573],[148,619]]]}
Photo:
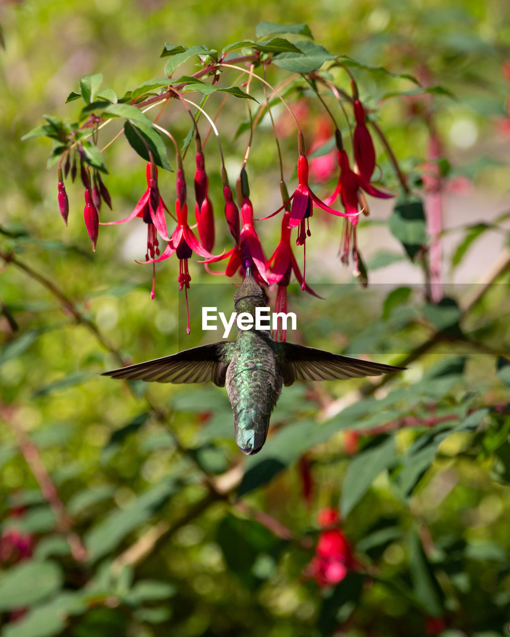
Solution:
{"label": "narrow dark upright leaf right of the low blurred red flower", "polygon": [[409,568],[414,594],[427,613],[433,617],[441,617],[444,608],[444,593],[425,555],[418,531],[414,527],[409,532],[409,553]]}

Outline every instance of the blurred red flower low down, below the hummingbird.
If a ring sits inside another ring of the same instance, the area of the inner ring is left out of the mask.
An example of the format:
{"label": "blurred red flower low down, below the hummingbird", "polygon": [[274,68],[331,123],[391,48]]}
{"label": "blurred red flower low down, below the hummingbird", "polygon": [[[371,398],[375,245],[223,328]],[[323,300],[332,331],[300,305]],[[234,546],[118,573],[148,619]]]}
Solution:
{"label": "blurred red flower low down, below the hummingbird", "polygon": [[[338,513],[332,508],[319,512],[318,521],[321,526],[331,526],[339,522]],[[315,555],[307,568],[307,572],[319,586],[333,586],[341,582],[350,569],[356,566],[351,547],[339,528],[322,531],[315,550]]]}

